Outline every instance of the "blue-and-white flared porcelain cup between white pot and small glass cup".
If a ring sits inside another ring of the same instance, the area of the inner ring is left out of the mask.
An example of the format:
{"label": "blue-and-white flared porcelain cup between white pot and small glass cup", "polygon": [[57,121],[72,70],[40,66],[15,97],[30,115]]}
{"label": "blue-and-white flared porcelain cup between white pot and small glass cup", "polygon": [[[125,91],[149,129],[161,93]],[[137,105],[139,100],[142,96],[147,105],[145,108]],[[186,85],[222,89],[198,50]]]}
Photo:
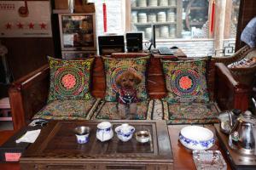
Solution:
{"label": "blue-and-white flared porcelain cup between white pot and small glass cup", "polygon": [[114,130],[120,140],[122,140],[123,142],[127,142],[132,138],[132,134],[135,132],[135,127],[132,127],[125,123],[119,127],[115,127]]}

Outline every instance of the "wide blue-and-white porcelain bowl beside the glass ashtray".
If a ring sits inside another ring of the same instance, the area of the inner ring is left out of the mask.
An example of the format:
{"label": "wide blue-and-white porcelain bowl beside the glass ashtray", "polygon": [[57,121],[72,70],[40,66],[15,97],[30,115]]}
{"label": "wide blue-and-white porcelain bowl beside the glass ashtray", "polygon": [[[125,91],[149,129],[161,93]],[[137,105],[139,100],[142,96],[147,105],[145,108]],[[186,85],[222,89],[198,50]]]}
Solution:
{"label": "wide blue-and-white porcelain bowl beside the glass ashtray", "polygon": [[180,131],[179,141],[190,150],[207,150],[214,144],[214,137],[205,127],[189,126]]}

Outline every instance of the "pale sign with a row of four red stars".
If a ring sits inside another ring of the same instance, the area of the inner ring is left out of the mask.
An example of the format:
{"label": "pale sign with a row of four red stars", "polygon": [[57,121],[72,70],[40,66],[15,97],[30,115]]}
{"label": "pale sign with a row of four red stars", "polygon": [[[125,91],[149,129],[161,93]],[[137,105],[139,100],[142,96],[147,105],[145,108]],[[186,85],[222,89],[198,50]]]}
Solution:
{"label": "pale sign with a row of four red stars", "polygon": [[52,37],[49,1],[0,1],[0,37]]}

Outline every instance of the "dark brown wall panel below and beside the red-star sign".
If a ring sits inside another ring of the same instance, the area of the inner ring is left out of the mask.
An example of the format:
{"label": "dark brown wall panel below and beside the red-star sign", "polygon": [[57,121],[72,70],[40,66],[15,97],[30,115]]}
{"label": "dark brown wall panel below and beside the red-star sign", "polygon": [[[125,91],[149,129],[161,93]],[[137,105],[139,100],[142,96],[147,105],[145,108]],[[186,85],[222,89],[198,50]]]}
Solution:
{"label": "dark brown wall panel below and beside the red-star sign", "polygon": [[[31,0],[28,0],[31,1]],[[49,1],[54,7],[54,0]],[[47,63],[47,55],[60,57],[58,21],[51,15],[53,37],[1,37],[9,53],[7,61],[14,80],[25,76]],[[57,54],[57,55],[56,55]]]}

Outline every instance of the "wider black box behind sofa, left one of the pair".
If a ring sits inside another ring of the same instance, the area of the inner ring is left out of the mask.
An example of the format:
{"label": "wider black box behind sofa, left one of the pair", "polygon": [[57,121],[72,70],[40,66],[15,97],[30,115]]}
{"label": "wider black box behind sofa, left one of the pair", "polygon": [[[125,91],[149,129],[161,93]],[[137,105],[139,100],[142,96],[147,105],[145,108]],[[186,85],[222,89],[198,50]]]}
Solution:
{"label": "wider black box behind sofa, left one of the pair", "polygon": [[98,43],[100,55],[125,52],[124,36],[99,36]]}

